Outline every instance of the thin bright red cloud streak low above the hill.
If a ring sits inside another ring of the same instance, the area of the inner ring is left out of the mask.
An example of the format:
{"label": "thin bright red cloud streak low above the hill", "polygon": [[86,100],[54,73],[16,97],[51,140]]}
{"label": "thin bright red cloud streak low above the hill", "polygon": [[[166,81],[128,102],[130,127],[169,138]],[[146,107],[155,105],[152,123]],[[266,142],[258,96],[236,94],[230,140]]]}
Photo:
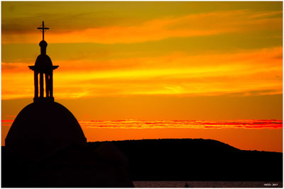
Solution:
{"label": "thin bright red cloud streak low above the hill", "polygon": [[[11,126],[13,120],[1,120],[2,126]],[[119,128],[119,129],[282,129],[283,120],[80,120],[83,128]]]}

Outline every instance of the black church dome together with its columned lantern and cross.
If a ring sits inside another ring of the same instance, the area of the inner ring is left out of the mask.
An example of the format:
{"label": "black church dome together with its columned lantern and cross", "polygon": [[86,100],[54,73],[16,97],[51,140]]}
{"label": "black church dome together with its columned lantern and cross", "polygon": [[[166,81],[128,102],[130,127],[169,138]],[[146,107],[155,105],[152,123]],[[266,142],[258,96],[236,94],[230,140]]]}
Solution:
{"label": "black church dome together with its columned lantern and cross", "polygon": [[60,103],[54,102],[53,70],[58,66],[53,66],[50,57],[46,55],[48,43],[44,40],[44,33],[49,28],[45,28],[43,22],[38,29],[43,32],[43,40],[39,44],[40,55],[35,65],[29,66],[34,71],[34,102],[17,115],[5,140],[7,150],[31,161],[43,158],[62,147],[84,145],[87,142],[74,115]]}

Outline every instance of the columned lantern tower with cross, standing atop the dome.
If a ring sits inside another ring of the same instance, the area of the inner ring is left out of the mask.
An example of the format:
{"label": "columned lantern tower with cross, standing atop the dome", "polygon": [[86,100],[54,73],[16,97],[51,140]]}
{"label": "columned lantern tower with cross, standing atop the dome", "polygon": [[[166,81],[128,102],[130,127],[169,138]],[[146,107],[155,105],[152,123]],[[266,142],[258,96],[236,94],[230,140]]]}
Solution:
{"label": "columned lantern tower with cross, standing atop the dome", "polygon": [[[31,70],[34,71],[34,84],[35,84],[35,97],[33,98],[34,102],[38,101],[54,101],[53,98],[53,70],[57,69],[59,66],[53,66],[50,57],[46,55],[46,47],[48,43],[44,40],[45,30],[44,21],[43,25],[40,25],[38,30],[41,30],[43,33],[43,40],[40,41],[40,55],[35,60],[34,66],[29,66]],[[40,82],[38,84],[38,75],[40,77]],[[44,85],[43,81],[45,79],[45,95],[44,95]],[[39,94],[38,94],[39,86]]]}

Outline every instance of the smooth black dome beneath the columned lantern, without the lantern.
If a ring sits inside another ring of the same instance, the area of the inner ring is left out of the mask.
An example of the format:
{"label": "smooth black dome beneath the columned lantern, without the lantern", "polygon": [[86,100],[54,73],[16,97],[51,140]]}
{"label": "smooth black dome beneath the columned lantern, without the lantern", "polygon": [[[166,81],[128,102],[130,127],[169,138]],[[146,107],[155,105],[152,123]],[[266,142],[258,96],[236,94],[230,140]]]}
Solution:
{"label": "smooth black dome beneath the columned lantern, without the lantern", "polygon": [[70,144],[85,144],[86,138],[67,108],[60,103],[40,101],[21,110],[5,143],[9,151],[37,160]]}

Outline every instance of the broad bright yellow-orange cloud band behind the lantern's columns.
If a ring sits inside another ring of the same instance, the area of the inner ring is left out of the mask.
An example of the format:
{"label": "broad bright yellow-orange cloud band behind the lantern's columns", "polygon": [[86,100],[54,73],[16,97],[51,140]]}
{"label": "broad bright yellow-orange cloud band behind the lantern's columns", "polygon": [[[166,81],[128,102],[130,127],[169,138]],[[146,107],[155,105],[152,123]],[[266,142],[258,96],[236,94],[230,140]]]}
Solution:
{"label": "broad bright yellow-orange cloud band behind the lantern's columns", "polygon": [[[26,66],[2,63],[3,99],[33,96],[33,74]],[[57,98],[278,94],[283,89],[282,70],[282,47],[211,55],[174,53],[105,62],[62,62],[54,74],[54,86]]]}

